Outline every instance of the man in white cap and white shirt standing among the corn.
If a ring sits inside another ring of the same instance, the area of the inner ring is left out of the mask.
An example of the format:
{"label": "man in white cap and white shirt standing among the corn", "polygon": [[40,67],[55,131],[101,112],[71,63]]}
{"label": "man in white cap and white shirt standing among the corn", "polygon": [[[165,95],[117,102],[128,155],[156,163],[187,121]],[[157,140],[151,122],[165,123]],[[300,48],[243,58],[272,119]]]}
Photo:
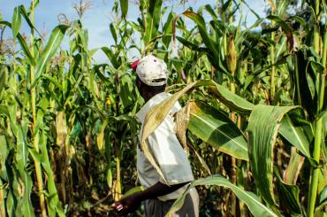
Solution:
{"label": "man in white cap and white shirt standing among the corn", "polygon": [[[147,112],[171,95],[164,92],[168,70],[163,60],[149,55],[142,58],[136,66],[136,85],[146,104],[136,114],[143,130]],[[186,151],[183,150],[174,131],[173,115],[181,109],[176,103],[171,112],[156,130],[148,136],[148,145],[158,166],[161,168],[165,183],[156,169],[149,163],[141,145],[137,147],[137,171],[141,185],[145,187],[139,193],[123,198],[114,207],[119,214],[132,213],[145,201],[145,216],[161,217],[168,213],[173,202],[186,190],[188,183],[194,180]],[[140,132],[140,141],[141,141]],[[195,189],[186,196],[182,208],[173,216],[198,216],[199,197]]]}

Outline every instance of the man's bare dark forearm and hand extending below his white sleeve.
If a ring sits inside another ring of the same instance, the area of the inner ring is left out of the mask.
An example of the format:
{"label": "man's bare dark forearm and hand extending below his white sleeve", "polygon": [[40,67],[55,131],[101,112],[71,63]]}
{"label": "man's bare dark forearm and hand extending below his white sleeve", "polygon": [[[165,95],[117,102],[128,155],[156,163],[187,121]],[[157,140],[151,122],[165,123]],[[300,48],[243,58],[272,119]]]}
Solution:
{"label": "man's bare dark forearm and hand extending below his white sleeve", "polygon": [[[122,198],[119,201],[119,203],[121,205],[123,205],[123,209],[121,209],[121,211],[118,211],[118,213],[119,214],[132,213],[141,205],[141,202],[143,200],[150,199],[150,198],[157,198],[160,196],[167,195],[167,194],[183,187],[184,185],[186,185],[186,183],[188,183],[188,182],[174,184],[174,185],[166,185],[162,182],[156,182],[156,184],[152,185],[151,187],[149,187],[146,190],[135,193],[126,198]],[[117,207],[118,204],[114,205],[114,207]]]}

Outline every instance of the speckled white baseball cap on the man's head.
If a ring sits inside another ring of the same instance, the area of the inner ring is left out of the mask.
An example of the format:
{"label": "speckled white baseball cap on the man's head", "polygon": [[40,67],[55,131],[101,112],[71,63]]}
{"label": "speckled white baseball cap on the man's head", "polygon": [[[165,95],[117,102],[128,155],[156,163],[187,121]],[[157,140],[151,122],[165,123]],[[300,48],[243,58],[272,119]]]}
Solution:
{"label": "speckled white baseball cap on the man's head", "polygon": [[136,67],[136,74],[148,86],[161,86],[167,83],[169,76],[164,60],[148,55],[141,58]]}

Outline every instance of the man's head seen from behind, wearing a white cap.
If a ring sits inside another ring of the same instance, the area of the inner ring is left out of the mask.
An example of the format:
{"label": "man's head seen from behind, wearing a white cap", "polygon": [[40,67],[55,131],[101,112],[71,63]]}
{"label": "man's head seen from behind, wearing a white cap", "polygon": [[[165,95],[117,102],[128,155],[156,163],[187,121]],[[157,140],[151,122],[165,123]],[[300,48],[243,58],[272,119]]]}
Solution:
{"label": "man's head seen from behind, wearing a white cap", "polygon": [[152,55],[141,58],[136,67],[136,74],[136,85],[146,101],[164,92],[169,75],[164,60]]}

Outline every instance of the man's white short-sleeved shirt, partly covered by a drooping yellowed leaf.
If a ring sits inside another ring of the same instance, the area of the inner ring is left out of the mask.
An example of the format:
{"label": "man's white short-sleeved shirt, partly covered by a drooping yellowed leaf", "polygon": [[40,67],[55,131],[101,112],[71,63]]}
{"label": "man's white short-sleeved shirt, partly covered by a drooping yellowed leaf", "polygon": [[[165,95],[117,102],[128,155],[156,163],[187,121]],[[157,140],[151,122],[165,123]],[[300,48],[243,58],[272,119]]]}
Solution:
{"label": "man's white short-sleeved shirt, partly covered by a drooping yellowed leaf", "polygon": [[[162,92],[152,97],[136,114],[136,120],[141,123],[141,133],[143,130],[144,119],[147,112],[165,98],[170,97],[171,94]],[[181,109],[177,102],[172,108],[164,121],[156,128],[156,130],[148,136],[148,146],[153,153],[154,158],[160,169],[164,174],[164,178],[169,185],[179,184],[183,182],[191,182],[194,180],[190,163],[187,159],[186,151],[183,150],[179,143],[179,140],[174,131],[174,119],[173,114],[179,112]],[[156,169],[152,167],[151,163],[145,157],[141,146],[137,148],[137,171],[141,185],[148,188],[156,182],[163,182],[160,175],[156,172]],[[160,200],[170,200],[179,198],[179,196],[186,190],[187,186],[173,191],[168,195],[158,197]]]}

